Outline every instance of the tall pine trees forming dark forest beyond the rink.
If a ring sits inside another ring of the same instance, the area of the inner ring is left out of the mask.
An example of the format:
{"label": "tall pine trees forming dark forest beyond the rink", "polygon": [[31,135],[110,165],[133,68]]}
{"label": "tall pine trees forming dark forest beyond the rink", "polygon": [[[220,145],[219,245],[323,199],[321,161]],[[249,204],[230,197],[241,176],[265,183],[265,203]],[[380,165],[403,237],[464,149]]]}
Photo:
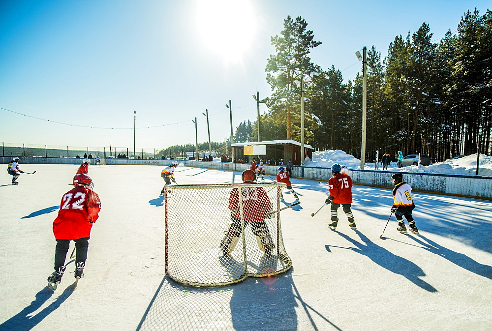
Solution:
{"label": "tall pine trees forming dark forest beyond the rink", "polygon": [[[448,30],[436,43],[432,35],[424,22],[414,33],[397,35],[384,59],[374,46],[368,49],[368,160],[376,150],[379,155],[397,150],[429,154],[434,162],[477,149],[492,154],[492,11],[480,15],[476,8],[468,10],[455,34]],[[301,141],[303,75],[305,143],[360,157],[362,75],[343,83],[339,69],[313,63],[309,54],[321,42],[314,40],[302,17],[288,16],[271,41],[275,54],[267,59],[265,71],[272,93],[261,100],[269,108],[260,115],[261,140]],[[257,141],[256,125],[256,120],[240,123],[234,142]],[[201,145],[208,151],[208,142]],[[217,143],[221,153],[227,147],[230,137]]]}

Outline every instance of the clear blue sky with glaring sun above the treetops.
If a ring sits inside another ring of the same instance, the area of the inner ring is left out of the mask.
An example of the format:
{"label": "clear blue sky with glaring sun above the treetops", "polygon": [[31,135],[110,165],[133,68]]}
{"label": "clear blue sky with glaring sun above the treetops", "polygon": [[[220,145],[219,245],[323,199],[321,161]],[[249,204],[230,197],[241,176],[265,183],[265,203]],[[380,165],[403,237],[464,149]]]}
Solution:
{"label": "clear blue sky with glaring sun above the treetops", "polygon": [[251,95],[270,94],[270,38],[287,15],[322,42],[313,62],[346,81],[361,71],[354,53],[364,46],[384,57],[423,22],[438,40],[475,7],[484,14],[490,0],[1,0],[0,107],[50,122],[0,109],[0,141],[132,148],[136,111],[137,149],[194,143],[195,117],[205,142],[205,109],[212,140],[223,141],[225,104],[235,130],[256,118]]}

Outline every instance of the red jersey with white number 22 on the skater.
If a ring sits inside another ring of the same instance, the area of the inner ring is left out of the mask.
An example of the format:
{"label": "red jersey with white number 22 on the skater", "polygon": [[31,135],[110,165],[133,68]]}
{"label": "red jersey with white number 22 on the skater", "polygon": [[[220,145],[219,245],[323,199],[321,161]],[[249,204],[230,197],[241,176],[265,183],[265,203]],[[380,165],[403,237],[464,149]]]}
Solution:
{"label": "red jersey with white number 22 on the skater", "polygon": [[56,239],[90,237],[92,223],[99,217],[101,200],[91,189],[77,186],[62,197],[58,217],[53,222]]}

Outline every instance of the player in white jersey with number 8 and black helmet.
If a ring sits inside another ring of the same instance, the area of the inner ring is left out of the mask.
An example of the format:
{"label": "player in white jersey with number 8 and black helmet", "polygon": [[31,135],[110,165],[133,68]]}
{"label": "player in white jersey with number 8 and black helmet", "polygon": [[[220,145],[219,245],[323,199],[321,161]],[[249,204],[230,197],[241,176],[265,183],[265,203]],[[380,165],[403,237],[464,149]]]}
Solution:
{"label": "player in white jersey with number 8 and black helmet", "polygon": [[412,211],[415,209],[415,204],[411,196],[412,186],[403,181],[403,175],[401,173],[396,173],[391,176],[393,181],[393,206],[391,207],[391,212],[395,213],[398,221],[397,230],[401,233],[407,233],[405,222],[403,221],[403,216],[405,216],[408,222],[408,227],[410,232],[419,233],[419,229],[415,225],[415,219],[413,219]]}

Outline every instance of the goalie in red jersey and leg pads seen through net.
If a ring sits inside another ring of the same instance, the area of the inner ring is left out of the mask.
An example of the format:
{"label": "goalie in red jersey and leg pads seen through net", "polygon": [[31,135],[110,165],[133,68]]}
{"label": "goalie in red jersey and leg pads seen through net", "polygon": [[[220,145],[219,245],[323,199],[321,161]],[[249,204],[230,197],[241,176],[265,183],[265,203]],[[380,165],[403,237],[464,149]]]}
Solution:
{"label": "goalie in red jersey and leg pads seen through net", "polygon": [[[251,184],[255,181],[254,171],[247,169],[242,174],[243,183]],[[271,215],[272,204],[263,187],[243,187],[241,189],[243,205],[244,225],[251,224],[251,232],[256,237],[258,247],[265,254],[270,255],[275,245],[265,223],[265,218]],[[220,242],[220,249],[225,257],[236,248],[241,237],[241,209],[239,205],[239,190],[233,188],[229,196],[229,209],[231,210],[232,224],[226,231],[224,239]]]}

